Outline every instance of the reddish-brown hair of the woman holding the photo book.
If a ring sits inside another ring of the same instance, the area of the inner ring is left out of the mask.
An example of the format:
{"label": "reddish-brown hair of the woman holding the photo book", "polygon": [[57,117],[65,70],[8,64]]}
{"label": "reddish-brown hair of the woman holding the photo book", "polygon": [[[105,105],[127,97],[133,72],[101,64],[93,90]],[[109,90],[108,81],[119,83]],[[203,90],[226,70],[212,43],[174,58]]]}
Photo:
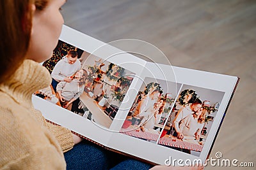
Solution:
{"label": "reddish-brown hair of the woman holding the photo book", "polygon": [[9,78],[26,58],[32,26],[31,4],[43,10],[47,0],[0,1],[0,83]]}

